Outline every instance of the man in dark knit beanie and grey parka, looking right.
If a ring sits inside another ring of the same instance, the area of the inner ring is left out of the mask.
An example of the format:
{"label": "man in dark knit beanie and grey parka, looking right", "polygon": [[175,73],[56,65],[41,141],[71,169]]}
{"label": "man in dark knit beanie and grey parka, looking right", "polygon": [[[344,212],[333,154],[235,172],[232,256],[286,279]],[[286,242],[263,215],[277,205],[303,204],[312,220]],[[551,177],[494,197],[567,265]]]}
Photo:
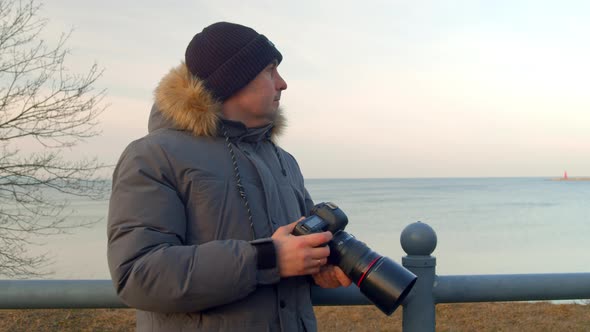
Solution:
{"label": "man in dark knit beanie and grey parka, looking right", "polygon": [[109,207],[109,268],[138,330],[314,331],[311,279],[350,284],[326,265],[329,232],[291,235],[313,203],[273,142],[281,60],[253,29],[215,23],[156,88]]}

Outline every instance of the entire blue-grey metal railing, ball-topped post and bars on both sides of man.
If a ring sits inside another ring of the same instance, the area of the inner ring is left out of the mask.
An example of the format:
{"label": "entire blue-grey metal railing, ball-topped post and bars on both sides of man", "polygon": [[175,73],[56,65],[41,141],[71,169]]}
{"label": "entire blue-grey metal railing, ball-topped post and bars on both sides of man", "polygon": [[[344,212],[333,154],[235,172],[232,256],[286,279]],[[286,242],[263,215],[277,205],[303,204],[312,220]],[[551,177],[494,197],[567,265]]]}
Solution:
{"label": "entire blue-grey metal railing, ball-topped post and bars on both sides of man", "polygon": [[[418,276],[403,304],[404,331],[434,331],[438,303],[590,299],[590,273],[437,276],[436,233],[408,225],[402,264]],[[557,285],[557,286],[556,286]],[[365,305],[358,288],[312,289],[314,305]],[[110,280],[0,280],[0,309],[125,308]]]}

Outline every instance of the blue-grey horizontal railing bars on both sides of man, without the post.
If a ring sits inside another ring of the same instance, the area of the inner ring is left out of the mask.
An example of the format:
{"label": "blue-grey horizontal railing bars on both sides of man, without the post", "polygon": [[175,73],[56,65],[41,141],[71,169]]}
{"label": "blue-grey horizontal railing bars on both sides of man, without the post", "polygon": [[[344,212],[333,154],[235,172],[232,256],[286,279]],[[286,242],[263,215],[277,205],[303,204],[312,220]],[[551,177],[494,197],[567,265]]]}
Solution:
{"label": "blue-grey horizontal railing bars on both sides of man, without the post", "polygon": [[[437,276],[436,303],[590,299],[590,273]],[[312,287],[314,305],[366,305],[355,286]],[[126,308],[110,280],[0,280],[0,309]]]}

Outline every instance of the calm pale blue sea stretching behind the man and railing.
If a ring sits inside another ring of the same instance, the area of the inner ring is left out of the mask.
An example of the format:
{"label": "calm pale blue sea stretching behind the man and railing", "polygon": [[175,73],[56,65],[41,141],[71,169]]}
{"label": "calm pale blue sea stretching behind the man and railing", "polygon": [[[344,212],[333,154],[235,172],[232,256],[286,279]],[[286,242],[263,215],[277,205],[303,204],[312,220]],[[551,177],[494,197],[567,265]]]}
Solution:
{"label": "calm pale blue sea stretching behind the man and railing", "polygon": [[[590,272],[590,181],[544,178],[313,179],[316,202],[332,201],[346,230],[401,261],[399,237],[422,221],[437,234],[437,273]],[[46,238],[56,279],[108,279],[108,201],[75,200],[72,218],[102,221]]]}

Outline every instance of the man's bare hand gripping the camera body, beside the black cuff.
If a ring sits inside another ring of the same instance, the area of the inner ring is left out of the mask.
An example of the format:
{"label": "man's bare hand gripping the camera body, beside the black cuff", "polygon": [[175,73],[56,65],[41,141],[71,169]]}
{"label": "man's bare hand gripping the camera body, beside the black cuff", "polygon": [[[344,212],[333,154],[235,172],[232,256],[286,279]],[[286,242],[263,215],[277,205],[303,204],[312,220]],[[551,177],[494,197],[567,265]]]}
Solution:
{"label": "man's bare hand gripping the camera body, beside the black cuff", "polygon": [[330,248],[323,246],[332,239],[332,233],[314,233],[295,236],[291,234],[299,220],[279,227],[272,235],[281,277],[314,274],[320,271],[330,255]]}

